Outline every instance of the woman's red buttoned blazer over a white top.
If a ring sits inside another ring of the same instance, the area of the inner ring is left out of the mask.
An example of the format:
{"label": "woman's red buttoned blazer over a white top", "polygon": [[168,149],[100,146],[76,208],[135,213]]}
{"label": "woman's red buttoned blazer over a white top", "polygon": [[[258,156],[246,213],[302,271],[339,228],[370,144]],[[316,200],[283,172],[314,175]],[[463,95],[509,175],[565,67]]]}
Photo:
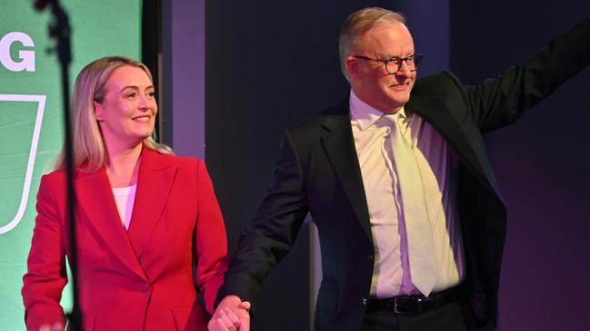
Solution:
{"label": "woman's red buttoned blazer over a white top", "polygon": [[[212,312],[227,264],[225,226],[205,163],[145,147],[141,158],[128,231],[105,169],[75,173],[85,330],[205,330],[196,291]],[[29,330],[65,322],[59,306],[70,253],[65,185],[65,171],[56,170],[43,176],[37,194],[22,291]]]}

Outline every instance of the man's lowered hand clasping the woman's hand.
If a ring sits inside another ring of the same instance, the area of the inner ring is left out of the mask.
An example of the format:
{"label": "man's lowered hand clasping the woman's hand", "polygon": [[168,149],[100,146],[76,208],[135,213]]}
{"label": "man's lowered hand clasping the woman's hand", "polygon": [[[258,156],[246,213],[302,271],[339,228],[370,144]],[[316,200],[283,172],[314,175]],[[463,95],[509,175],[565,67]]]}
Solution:
{"label": "man's lowered hand clasping the woman's hand", "polygon": [[215,309],[207,328],[209,331],[249,331],[250,303],[237,296],[227,296]]}

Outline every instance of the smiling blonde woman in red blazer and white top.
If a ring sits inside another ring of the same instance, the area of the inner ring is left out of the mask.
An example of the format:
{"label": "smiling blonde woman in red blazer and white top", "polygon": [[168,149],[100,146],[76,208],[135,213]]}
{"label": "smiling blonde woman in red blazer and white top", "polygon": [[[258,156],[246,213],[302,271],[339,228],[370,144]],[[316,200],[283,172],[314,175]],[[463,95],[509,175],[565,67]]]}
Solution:
{"label": "smiling blonde woman in red blazer and white top", "polygon": [[[157,104],[143,63],[88,64],[73,102],[80,309],[85,330],[205,330],[223,282],[225,227],[203,161],[152,138]],[[62,158],[63,159],[63,158]],[[23,299],[28,330],[63,330],[70,254],[64,162],[43,176]],[[194,271],[195,266],[195,271]]]}

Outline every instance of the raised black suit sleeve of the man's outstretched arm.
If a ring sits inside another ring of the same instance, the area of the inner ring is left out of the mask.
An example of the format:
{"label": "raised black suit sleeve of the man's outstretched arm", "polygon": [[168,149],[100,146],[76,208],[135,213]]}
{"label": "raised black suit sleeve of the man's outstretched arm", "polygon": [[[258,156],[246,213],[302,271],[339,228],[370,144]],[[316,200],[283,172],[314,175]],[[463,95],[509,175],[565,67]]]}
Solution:
{"label": "raised black suit sleeve of the man's outstretched arm", "polygon": [[495,79],[464,87],[465,102],[483,132],[515,122],[590,63],[590,19],[558,36],[524,63]]}

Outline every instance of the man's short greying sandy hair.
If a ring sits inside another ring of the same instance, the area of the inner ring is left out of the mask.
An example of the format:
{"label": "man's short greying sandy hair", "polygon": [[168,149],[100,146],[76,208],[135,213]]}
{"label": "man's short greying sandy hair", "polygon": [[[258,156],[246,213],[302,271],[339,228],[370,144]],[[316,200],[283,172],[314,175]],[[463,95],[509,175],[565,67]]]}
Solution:
{"label": "man's short greying sandy hair", "polygon": [[345,20],[340,29],[338,48],[340,53],[340,68],[350,81],[346,73],[346,57],[358,47],[363,35],[377,24],[385,22],[399,22],[405,24],[405,17],[401,13],[392,12],[380,7],[368,7],[354,12]]}

